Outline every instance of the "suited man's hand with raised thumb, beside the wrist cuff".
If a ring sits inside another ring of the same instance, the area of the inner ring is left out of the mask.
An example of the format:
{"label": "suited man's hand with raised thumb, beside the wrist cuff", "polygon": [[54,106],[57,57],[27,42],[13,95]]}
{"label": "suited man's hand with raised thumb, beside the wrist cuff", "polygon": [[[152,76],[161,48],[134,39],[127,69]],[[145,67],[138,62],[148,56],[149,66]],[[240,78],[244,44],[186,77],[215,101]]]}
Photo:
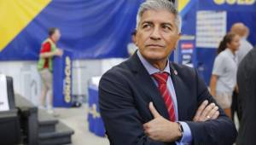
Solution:
{"label": "suited man's hand with raised thumb, beside the wrist cuff", "polygon": [[182,136],[178,124],[163,118],[154,108],[153,102],[149,102],[149,109],[154,119],[143,125],[149,138],[160,142],[175,142]]}

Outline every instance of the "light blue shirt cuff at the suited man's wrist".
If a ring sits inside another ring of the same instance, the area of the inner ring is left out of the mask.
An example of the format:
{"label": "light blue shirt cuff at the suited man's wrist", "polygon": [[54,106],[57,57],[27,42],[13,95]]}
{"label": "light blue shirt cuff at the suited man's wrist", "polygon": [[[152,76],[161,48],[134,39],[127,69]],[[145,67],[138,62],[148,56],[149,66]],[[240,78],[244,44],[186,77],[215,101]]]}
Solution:
{"label": "light blue shirt cuff at the suited man's wrist", "polygon": [[180,142],[177,142],[177,144],[189,145],[192,141],[192,134],[189,125],[183,121],[179,121],[179,123],[183,126],[183,137]]}

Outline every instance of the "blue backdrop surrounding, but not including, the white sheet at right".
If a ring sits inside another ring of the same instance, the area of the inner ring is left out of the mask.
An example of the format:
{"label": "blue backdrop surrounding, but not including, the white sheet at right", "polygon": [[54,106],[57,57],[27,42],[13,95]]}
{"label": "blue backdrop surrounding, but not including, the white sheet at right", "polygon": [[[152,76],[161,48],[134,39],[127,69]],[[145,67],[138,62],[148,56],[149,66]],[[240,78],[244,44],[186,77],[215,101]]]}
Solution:
{"label": "blue backdrop surrounding, but not including, the white sheet at right", "polygon": [[[219,2],[219,3],[216,3]],[[195,36],[196,30],[196,12],[198,10],[218,10],[227,11],[227,31],[230,31],[230,26],[235,22],[242,22],[250,29],[248,40],[251,44],[256,44],[256,1],[248,0],[234,0],[233,3],[228,0],[190,0],[189,4],[181,15],[183,17],[183,35]],[[196,40],[196,38],[195,38]],[[186,40],[181,40],[180,44],[185,43]],[[193,42],[191,42],[193,43]],[[198,68],[199,73],[209,84],[212,74],[212,65],[216,56],[217,48],[195,48],[193,52],[193,64]],[[179,58],[182,59],[183,54],[179,53]]]}

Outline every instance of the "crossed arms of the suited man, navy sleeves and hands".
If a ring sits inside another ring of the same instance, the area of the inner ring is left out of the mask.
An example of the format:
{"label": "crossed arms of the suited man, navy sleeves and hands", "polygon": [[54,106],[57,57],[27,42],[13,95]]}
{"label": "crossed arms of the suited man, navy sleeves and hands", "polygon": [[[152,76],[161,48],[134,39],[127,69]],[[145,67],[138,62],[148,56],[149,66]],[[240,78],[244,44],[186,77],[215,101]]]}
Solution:
{"label": "crossed arms of the suited man, navy sleeves and hands", "polygon": [[[195,113],[193,121],[186,121],[194,144],[232,144],[236,139],[236,128],[224,115],[223,110],[212,104],[214,101],[207,88],[200,90],[199,100],[208,100],[211,103],[207,105],[207,102],[203,102]],[[108,73],[108,77],[102,77],[99,86],[99,103],[110,143],[163,145],[163,142],[176,141],[180,136],[177,123],[163,119],[154,113],[153,107],[149,107],[148,113],[154,114],[155,118],[149,122],[145,121],[134,104],[131,92],[127,82],[117,77],[115,73]],[[148,106],[148,104],[141,105]],[[147,123],[143,125],[143,122]],[[161,136],[163,134],[165,136]]]}

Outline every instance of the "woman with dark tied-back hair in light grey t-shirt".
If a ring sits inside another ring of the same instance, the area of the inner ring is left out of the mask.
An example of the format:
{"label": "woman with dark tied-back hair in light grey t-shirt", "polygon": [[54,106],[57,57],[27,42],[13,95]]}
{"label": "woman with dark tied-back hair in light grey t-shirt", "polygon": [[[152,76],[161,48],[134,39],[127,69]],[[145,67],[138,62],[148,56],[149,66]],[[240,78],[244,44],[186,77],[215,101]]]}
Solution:
{"label": "woman with dark tied-back hair in light grey t-shirt", "polygon": [[210,83],[211,94],[231,119],[232,94],[236,88],[237,57],[240,37],[227,33],[218,46]]}

